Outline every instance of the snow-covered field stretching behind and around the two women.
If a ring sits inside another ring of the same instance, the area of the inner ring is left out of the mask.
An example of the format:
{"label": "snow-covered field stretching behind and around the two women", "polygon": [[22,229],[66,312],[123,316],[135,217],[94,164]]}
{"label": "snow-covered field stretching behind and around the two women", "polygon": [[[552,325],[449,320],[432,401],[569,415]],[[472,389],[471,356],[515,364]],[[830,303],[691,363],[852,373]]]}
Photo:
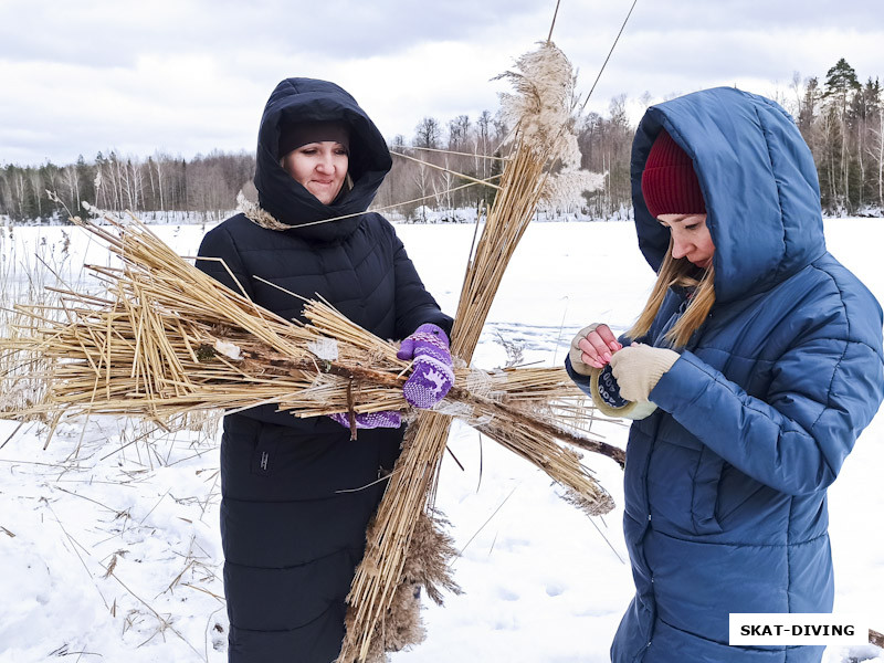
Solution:
{"label": "snow-covered field stretching behind and around the two women", "polygon": [[[207,225],[157,232],[193,255]],[[884,220],[827,221],[829,248],[884,301]],[[453,313],[470,225],[398,225],[428,288]],[[69,283],[104,250],[73,228],[0,227],[0,299],[34,301]],[[540,223],[511,263],[475,357],[493,368],[516,344],[525,361],[560,364],[592,322],[628,327],[652,282],[629,223]],[[1,394],[0,394],[1,396]],[[627,429],[597,425],[624,445]],[[0,663],[227,661],[228,622],[218,532],[218,431],[162,434],[93,418],[48,428],[0,421]],[[427,641],[393,663],[604,662],[632,596],[621,534],[622,474],[588,455],[618,509],[588,519],[546,475],[455,427],[439,507],[462,550],[464,589],[424,611]],[[480,465],[482,472],[480,473]],[[884,413],[830,490],[835,611],[884,630]],[[876,487],[877,486],[877,487]],[[828,663],[884,661],[871,646],[833,646]]]}

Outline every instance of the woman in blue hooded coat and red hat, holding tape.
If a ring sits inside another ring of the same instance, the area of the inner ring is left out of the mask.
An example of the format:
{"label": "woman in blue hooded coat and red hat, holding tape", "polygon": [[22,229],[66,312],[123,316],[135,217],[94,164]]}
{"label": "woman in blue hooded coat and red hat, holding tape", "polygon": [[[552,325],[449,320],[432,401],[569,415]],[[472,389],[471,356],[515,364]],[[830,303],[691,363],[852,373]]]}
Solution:
{"label": "woman in blue hooded coat and red hat, holding tape", "polygon": [[827,252],[813,159],[774,102],[716,88],[649,108],[632,182],[656,285],[620,340],[592,325],[567,360],[644,415],[612,660],[819,661],[730,646],[728,615],[832,610],[825,494],[882,400],[881,307]]}

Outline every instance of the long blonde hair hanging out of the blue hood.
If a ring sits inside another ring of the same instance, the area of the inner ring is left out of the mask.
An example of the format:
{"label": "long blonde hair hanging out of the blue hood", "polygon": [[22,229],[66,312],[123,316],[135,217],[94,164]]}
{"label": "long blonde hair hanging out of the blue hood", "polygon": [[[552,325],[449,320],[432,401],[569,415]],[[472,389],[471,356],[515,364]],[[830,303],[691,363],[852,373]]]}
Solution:
{"label": "long blonde hair hanging out of the blue hood", "polygon": [[695,290],[691,296],[691,303],[664,336],[672,347],[684,347],[691,340],[694,332],[699,329],[699,326],[706,320],[713,304],[715,304],[715,270],[709,265],[699,277],[697,276],[697,267],[687,259],[672,257],[672,239],[670,239],[670,246],[663,257],[663,264],[660,265],[654,288],[651,291],[639,319],[627,332],[627,336],[641,338],[648,334],[671,287],[693,287]]}

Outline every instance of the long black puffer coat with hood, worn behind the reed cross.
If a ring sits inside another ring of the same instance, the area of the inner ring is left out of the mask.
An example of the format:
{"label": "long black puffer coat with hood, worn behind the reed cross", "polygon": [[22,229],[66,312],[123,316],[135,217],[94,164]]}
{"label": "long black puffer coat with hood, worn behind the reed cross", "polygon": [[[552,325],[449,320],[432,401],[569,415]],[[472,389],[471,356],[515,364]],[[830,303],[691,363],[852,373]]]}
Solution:
{"label": "long black puffer coat with hood, worn behind the reed cross", "polygon": [[[286,173],[280,127],[301,120],[350,126],[354,186],[325,206]],[[382,136],[344,90],[288,78],[270,97],[259,134],[255,186],[261,207],[291,225],[267,230],[238,214],[210,231],[201,257],[223,259],[245,294],[285,318],[295,297],[320,295],[382,338],[402,339],[423,323],[451,318],[424,290],[392,227],[365,211],[390,169]],[[238,290],[224,265],[197,265]],[[262,406],[224,419],[221,536],[231,663],[330,663],[344,635],[345,597],[362,556],[365,530],[385,484],[355,492],[392,469],[401,430],[349,431],[327,418],[295,419]]]}

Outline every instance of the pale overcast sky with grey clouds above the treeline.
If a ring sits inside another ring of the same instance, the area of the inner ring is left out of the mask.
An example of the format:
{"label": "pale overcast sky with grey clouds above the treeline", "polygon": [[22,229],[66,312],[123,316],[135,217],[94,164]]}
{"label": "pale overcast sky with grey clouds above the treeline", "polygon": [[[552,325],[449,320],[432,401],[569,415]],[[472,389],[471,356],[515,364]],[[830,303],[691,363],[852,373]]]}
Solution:
{"label": "pale overcast sky with grey clouds above the treeline", "polygon": [[[632,0],[561,0],[586,94]],[[495,109],[490,78],[544,40],[555,0],[0,0],[0,165],[98,150],[253,150],[270,92],[334,81],[392,138]],[[715,85],[789,93],[840,57],[884,77],[882,0],[638,0],[588,109]]]}

